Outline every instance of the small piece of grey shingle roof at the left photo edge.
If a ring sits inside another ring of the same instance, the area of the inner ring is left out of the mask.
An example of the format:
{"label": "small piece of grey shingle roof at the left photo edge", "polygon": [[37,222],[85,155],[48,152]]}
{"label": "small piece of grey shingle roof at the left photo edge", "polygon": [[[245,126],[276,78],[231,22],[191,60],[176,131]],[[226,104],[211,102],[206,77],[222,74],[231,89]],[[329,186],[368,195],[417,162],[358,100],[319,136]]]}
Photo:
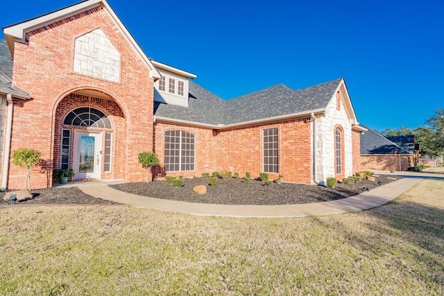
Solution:
{"label": "small piece of grey shingle roof at the left photo edge", "polygon": [[12,58],[4,39],[0,39],[0,93],[12,94],[16,98],[29,98],[26,92],[12,84]]}

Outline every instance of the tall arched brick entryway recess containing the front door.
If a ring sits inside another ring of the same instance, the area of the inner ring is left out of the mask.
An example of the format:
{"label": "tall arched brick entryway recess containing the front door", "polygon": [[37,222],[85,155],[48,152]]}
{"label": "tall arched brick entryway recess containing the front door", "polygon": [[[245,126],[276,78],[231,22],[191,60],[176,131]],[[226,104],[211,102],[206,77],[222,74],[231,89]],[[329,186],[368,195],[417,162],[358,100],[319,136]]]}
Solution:
{"label": "tall arched brick entryway recess containing the front door", "polygon": [[72,168],[73,180],[120,179],[115,168],[126,121],[111,96],[93,90],[71,93],[58,103],[53,168]]}

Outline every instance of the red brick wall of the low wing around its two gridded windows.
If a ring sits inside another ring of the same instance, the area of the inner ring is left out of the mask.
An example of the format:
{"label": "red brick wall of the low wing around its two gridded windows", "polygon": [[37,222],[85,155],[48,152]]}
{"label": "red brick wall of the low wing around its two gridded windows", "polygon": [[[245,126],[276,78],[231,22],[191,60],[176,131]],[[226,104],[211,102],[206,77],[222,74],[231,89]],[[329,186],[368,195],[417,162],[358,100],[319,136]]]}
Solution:
{"label": "red brick wall of the low wing around its two gridded windows", "polygon": [[[164,132],[186,130],[196,135],[196,170],[168,172],[168,175],[184,177],[200,176],[228,169],[244,177],[250,172],[259,177],[262,172],[262,130],[279,130],[279,171],[284,181],[311,182],[311,139],[309,118],[282,121],[280,123],[254,125],[231,130],[212,130],[173,123],[155,123],[155,153],[164,163]],[[208,165],[208,168],[206,167]],[[271,174],[274,178],[276,175]]]}

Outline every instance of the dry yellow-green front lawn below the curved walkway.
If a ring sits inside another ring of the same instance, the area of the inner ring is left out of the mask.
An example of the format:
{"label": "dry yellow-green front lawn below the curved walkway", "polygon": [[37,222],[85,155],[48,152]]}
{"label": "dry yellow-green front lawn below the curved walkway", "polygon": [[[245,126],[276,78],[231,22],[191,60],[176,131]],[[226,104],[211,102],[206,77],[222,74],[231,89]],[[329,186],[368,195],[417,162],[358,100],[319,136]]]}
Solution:
{"label": "dry yellow-green front lawn below the curved walkway", "polygon": [[443,295],[443,190],[311,218],[0,209],[0,294]]}

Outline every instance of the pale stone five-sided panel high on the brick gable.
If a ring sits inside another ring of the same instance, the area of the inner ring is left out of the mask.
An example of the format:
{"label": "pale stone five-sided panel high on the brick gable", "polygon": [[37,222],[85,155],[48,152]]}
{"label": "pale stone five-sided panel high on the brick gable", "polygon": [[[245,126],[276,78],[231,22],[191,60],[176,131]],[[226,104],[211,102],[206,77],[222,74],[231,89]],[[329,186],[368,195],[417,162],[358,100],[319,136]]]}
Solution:
{"label": "pale stone five-sided panel high on the brick gable", "polygon": [[119,82],[120,53],[100,28],[76,38],[74,72]]}

